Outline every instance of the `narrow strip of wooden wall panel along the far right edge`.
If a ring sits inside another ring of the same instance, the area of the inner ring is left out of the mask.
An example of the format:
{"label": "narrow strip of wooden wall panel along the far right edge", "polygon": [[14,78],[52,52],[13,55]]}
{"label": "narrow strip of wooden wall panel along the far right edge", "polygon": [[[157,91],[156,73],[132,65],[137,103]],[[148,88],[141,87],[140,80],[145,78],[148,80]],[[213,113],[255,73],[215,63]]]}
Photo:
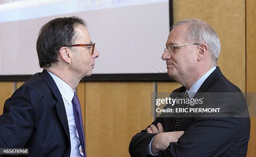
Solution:
{"label": "narrow strip of wooden wall panel along the far right edge", "polygon": [[[256,1],[246,0],[246,91],[256,92]],[[255,95],[255,94],[254,94]],[[254,106],[256,101],[254,99]],[[247,157],[256,154],[256,117],[251,115],[251,139]]]}

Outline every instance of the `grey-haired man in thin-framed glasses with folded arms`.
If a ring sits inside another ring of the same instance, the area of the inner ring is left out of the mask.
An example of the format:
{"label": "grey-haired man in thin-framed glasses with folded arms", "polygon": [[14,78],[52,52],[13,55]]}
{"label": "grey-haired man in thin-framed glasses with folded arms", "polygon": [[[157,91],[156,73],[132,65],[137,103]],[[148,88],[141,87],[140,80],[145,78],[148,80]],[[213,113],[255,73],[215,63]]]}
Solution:
{"label": "grey-haired man in thin-framed glasses with folded arms", "polygon": [[[172,26],[162,59],[166,61],[168,76],[182,87],[175,89],[170,97],[175,99],[180,94],[182,99],[191,100],[204,94],[210,99],[204,99],[207,103],[203,105],[220,106],[223,113],[193,116],[177,113],[175,117],[162,113],[132,138],[131,157],[246,156],[250,138],[246,103],[241,90],[217,66],[219,53],[219,37],[208,23],[187,19]],[[218,93],[217,99],[213,99],[213,93]],[[179,107],[187,109],[189,104]],[[243,113],[237,109],[244,109]]]}

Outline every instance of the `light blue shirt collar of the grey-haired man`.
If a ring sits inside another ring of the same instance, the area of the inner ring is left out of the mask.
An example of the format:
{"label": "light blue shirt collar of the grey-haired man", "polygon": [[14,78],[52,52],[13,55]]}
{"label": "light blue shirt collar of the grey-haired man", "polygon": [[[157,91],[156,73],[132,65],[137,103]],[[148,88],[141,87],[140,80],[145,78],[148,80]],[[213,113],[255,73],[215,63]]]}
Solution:
{"label": "light blue shirt collar of the grey-haired man", "polygon": [[214,66],[213,68],[211,68],[209,71],[207,71],[207,73],[205,73],[199,80],[197,80],[195,82],[195,84],[193,84],[191,86],[191,88],[189,89],[189,91],[186,90],[186,92],[188,92],[189,98],[192,99],[195,94],[197,93],[198,89],[200,89],[200,87],[202,86],[202,84],[204,83],[204,81],[207,79],[208,76],[210,76],[210,74],[216,69],[216,66]]}

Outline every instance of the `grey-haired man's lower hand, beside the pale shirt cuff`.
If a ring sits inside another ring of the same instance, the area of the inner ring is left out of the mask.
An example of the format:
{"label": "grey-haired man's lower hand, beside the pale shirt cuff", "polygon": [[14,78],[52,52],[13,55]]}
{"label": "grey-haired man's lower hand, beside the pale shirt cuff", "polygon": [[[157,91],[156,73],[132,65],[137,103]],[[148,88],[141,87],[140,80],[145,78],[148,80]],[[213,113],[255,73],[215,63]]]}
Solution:
{"label": "grey-haired man's lower hand, beside the pale shirt cuff", "polygon": [[[147,129],[148,130],[148,129]],[[184,131],[178,132],[161,132],[154,136],[154,139],[151,144],[151,152],[157,154],[160,151],[166,149],[170,142],[177,142],[179,137],[184,134]]]}

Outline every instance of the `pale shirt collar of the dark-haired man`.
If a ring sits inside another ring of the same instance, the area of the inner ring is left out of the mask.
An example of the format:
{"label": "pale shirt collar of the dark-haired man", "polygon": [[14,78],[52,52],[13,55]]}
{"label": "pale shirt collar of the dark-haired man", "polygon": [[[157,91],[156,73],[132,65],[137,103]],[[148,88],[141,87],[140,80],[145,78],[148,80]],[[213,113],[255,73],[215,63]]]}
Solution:
{"label": "pale shirt collar of the dark-haired man", "polygon": [[68,104],[71,104],[72,99],[74,97],[74,90],[63,80],[61,80],[58,76],[54,75],[50,71],[47,71],[51,77],[54,79],[54,82],[56,83],[61,96],[68,102]]}

